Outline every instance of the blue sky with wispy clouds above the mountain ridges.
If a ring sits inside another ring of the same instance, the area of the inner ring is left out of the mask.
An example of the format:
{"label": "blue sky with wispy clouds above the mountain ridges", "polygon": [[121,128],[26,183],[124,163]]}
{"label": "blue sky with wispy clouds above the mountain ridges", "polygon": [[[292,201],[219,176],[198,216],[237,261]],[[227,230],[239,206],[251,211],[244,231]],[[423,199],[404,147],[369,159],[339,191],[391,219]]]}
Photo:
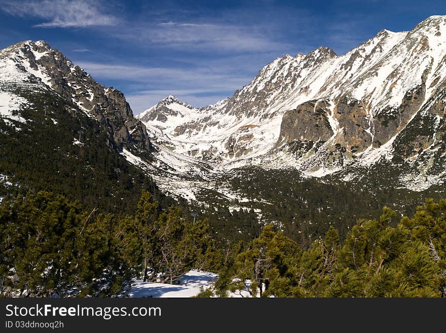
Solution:
{"label": "blue sky with wispy clouds above the mountain ridges", "polygon": [[0,48],[44,40],[122,90],[137,114],[170,94],[214,103],[279,56],[318,46],[341,55],[430,15],[446,15],[446,2],[0,0]]}

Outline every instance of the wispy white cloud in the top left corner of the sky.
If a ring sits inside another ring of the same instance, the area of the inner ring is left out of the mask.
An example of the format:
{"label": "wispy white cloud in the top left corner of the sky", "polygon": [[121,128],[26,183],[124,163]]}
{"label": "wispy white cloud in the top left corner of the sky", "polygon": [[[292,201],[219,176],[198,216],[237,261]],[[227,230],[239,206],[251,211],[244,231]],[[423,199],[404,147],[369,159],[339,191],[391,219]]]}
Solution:
{"label": "wispy white cloud in the top left corner of the sky", "polygon": [[0,4],[4,12],[18,17],[36,17],[45,22],[35,27],[88,27],[115,25],[118,19],[102,11],[100,1],[94,0],[42,0],[6,1]]}

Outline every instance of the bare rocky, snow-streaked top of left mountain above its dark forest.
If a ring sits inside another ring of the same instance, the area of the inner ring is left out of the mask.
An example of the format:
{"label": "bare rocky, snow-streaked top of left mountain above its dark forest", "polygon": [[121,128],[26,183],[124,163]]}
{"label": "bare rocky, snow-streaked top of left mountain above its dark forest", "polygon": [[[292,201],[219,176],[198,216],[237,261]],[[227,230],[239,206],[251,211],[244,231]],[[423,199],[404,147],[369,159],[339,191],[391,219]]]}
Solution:
{"label": "bare rocky, snow-streaked top of left mountain above its dark forest", "polygon": [[[133,117],[124,94],[99,85],[81,67],[44,41],[25,41],[0,51],[0,113],[8,120],[25,121],[13,110],[30,105],[27,93],[56,94],[108,129],[109,144],[135,144],[148,150],[145,126]],[[50,105],[48,105],[50,106]]]}

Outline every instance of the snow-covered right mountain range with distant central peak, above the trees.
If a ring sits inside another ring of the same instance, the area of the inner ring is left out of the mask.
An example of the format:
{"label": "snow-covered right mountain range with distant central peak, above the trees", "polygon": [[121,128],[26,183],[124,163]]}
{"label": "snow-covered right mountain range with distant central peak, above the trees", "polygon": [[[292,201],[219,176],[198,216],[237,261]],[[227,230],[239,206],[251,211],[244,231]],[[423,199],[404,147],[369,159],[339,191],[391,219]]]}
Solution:
{"label": "snow-covered right mountain range with distant central peak, above the trees", "polygon": [[402,187],[422,190],[446,172],[445,94],[446,16],[431,16],[342,56],[320,47],[277,58],[214,105],[169,96],[137,118],[160,146],[214,170],[293,167],[351,180],[387,161]]}

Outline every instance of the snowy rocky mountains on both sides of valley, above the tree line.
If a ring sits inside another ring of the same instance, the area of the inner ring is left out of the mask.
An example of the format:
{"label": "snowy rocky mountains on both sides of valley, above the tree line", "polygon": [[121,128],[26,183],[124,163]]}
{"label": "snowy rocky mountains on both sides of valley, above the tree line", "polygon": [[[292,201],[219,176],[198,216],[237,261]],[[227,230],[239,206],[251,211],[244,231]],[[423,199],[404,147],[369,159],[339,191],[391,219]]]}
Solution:
{"label": "snowy rocky mountains on both sides of valley, above the tree line", "polygon": [[[374,181],[374,191],[437,191],[446,179],[446,16],[407,32],[382,30],[342,56],[324,47],[285,55],[231,98],[196,108],[168,96],[136,118],[120,91],[43,41],[0,51],[0,119],[20,132],[30,112],[47,107],[99,124],[114,154],[191,202],[219,198],[215,205],[261,215],[273,203],[241,181],[256,175],[288,174],[280,186],[303,175],[362,188]],[[76,128],[63,130],[80,144]]]}

